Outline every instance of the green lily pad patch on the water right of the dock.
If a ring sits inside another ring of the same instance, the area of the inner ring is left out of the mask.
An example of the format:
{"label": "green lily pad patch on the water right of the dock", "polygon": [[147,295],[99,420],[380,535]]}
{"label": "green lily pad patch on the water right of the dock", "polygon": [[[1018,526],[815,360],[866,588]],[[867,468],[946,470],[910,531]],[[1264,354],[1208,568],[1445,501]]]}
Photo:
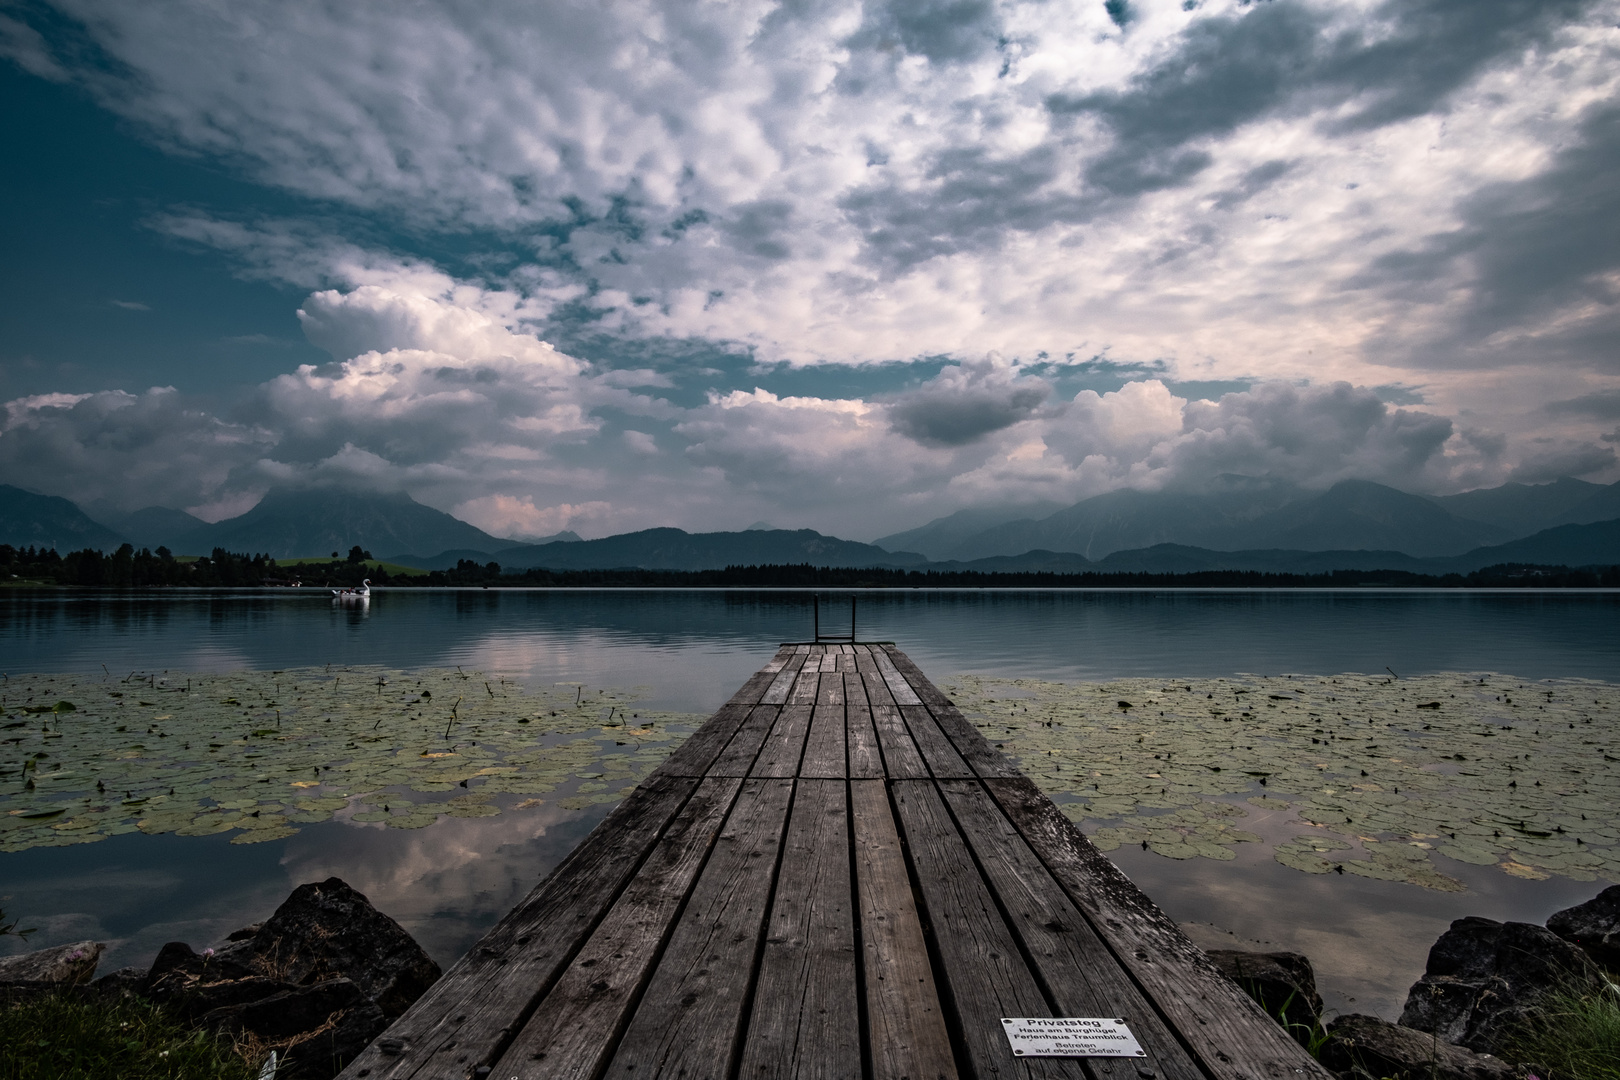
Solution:
{"label": "green lily pad patch on the water right of the dock", "polygon": [[1268,818],[1294,834],[1277,861],[1306,873],[1458,891],[1456,860],[1620,881],[1615,683],[964,675],[951,691],[1103,850],[1230,860],[1265,842],[1244,821]]}

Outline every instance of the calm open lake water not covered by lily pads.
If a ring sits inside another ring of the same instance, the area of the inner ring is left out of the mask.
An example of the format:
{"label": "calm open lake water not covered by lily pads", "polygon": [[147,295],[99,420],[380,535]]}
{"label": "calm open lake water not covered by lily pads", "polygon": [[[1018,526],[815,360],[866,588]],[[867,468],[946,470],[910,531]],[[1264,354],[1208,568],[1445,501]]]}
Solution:
{"label": "calm open lake water not covered by lily pads", "polygon": [[[850,594],[820,591],[823,628]],[[797,591],[377,591],[363,610],[319,593],[0,596],[0,669],[16,672],[274,670],[326,664],[463,665],[528,683],[646,687],[646,704],[708,712],[778,643],[810,636]],[[1586,591],[862,591],[862,640],[896,641],[935,680],[956,674],[1106,680],[1126,675],[1330,675],[1442,670],[1523,678],[1620,674],[1620,594]],[[0,853],[0,907],[39,926],[28,947],[96,938],[109,965],[144,965],[165,941],[212,944],[262,920],[303,881],[342,876],[449,963],[606,813],[554,803],[400,831],[335,819],[284,840],[117,836]],[[1285,823],[1256,819],[1257,832]],[[1456,863],[1439,894],[1234,861],[1111,857],[1205,946],[1299,949],[1340,1010],[1393,1017],[1427,946],[1461,915],[1542,921],[1602,884],[1521,881]],[[18,944],[5,941],[8,950]]]}

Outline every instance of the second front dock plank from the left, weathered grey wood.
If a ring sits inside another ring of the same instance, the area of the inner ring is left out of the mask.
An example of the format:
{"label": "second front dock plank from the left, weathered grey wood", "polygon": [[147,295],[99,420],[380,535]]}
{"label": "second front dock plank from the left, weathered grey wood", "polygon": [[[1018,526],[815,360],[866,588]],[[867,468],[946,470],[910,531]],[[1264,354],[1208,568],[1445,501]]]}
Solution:
{"label": "second front dock plank from the left, weathered grey wood", "polygon": [[501,1056],[505,1080],[591,1080],[624,1030],[740,779],[708,779]]}

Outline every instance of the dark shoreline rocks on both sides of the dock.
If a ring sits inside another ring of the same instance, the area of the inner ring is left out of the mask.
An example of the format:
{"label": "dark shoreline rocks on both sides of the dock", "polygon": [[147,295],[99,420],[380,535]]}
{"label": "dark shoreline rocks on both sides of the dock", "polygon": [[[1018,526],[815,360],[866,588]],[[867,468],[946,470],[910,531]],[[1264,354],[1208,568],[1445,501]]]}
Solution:
{"label": "dark shoreline rocks on both sides of the dock", "polygon": [[[102,950],[83,941],[0,960],[0,1002],[133,994],[228,1035],[251,1059],[274,1051],[282,1080],[330,1080],[439,978],[415,939],[339,878],[300,886],[269,920],[217,949],[168,942],[149,968],[94,978]],[[1296,952],[1209,957],[1345,1080],[1550,1080],[1542,1062],[1503,1054],[1557,994],[1620,994],[1620,886],[1545,926],[1456,920],[1395,1023],[1325,1020],[1311,962]]]}

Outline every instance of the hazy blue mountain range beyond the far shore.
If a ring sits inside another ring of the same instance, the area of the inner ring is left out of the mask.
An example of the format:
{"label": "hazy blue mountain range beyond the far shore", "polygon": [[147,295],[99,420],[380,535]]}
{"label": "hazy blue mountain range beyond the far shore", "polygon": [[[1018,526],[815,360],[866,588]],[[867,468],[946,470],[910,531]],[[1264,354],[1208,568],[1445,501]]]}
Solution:
{"label": "hazy blue mountain range beyond the far shore", "polygon": [[460,559],[494,560],[509,570],[813,563],[1103,573],[1447,573],[1500,562],[1620,563],[1620,484],[1568,478],[1422,497],[1369,481],[1307,492],[1228,476],[1199,494],[1113,491],[1055,507],[961,510],[873,544],[763,521],[740,533],[656,528],[591,541],[561,533],[518,544],[407,494],[272,491],[241,517],[207,525],[165,507],[91,517],[66,499],[0,486],[0,542],[110,551],[130,541],[177,554],[225,547],[275,559],[347,554],[358,544],[429,570]]}

